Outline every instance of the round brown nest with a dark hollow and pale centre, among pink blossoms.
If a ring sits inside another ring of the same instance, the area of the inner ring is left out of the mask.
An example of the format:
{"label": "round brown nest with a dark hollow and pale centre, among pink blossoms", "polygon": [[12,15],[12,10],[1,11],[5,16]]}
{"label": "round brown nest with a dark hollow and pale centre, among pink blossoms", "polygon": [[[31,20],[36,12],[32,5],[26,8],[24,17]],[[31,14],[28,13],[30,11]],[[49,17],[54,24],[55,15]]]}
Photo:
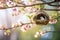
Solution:
{"label": "round brown nest with a dark hollow and pale centre, among pink blossoms", "polygon": [[45,12],[40,12],[33,17],[36,24],[47,25],[49,22],[49,16]]}

